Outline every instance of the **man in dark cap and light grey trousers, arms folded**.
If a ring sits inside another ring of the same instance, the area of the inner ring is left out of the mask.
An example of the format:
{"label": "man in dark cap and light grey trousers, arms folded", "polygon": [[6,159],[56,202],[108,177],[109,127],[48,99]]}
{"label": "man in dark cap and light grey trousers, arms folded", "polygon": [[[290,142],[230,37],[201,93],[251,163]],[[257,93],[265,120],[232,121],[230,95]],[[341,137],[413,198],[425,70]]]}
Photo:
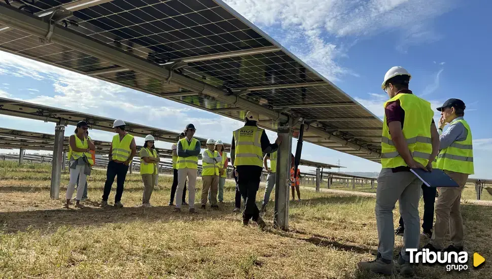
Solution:
{"label": "man in dark cap and light grey trousers, arms folded", "polygon": [[196,132],[193,124],[186,125],[185,138],[178,142],[178,188],[176,189],[176,207],[174,212],[181,212],[183,188],[188,178],[188,204],[190,213],[195,213],[195,184],[198,173],[198,155],[201,151],[200,141],[193,137]]}

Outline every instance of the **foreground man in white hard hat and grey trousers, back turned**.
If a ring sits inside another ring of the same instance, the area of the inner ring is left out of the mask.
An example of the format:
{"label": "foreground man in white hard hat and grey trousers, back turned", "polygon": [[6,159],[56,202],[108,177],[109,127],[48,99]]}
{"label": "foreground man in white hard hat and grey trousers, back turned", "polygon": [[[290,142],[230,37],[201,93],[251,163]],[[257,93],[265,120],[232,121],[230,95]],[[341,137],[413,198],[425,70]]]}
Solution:
{"label": "foreground man in white hard hat and grey trousers, back turned", "polygon": [[390,100],[384,103],[382,168],[377,178],[375,213],[379,244],[376,259],[359,262],[360,270],[382,274],[394,272],[393,209],[399,201],[405,231],[396,269],[405,276],[414,274],[410,254],[406,251],[419,246],[421,182],[410,168],[432,170],[432,162],[439,152],[439,134],[431,104],[408,89],[410,78],[403,67],[392,67],[381,85]]}

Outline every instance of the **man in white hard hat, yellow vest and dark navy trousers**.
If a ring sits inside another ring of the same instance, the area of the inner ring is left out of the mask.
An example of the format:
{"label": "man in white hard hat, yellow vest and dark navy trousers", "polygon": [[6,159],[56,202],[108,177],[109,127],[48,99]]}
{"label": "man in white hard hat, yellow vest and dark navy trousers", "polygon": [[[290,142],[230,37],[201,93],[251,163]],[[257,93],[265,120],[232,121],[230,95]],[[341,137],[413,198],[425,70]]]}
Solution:
{"label": "man in white hard hat, yellow vest and dark navy trousers", "polygon": [[106,171],[106,183],[104,183],[101,207],[108,206],[111,187],[113,186],[116,177],[117,186],[114,206],[123,207],[121,196],[123,195],[126,173],[128,172],[128,166],[130,165],[133,156],[136,154],[135,139],[131,134],[125,131],[125,125],[125,122],[120,119],[115,120],[113,123],[116,134],[113,136],[113,142],[111,143],[109,154],[110,161]]}

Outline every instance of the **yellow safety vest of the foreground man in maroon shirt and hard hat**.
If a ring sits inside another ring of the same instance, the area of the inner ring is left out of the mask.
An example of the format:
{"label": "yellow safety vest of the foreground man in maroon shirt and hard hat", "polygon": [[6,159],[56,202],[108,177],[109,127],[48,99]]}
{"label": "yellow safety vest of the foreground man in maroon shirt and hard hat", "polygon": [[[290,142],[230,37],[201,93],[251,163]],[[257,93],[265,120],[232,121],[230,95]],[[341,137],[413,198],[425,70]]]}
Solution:
{"label": "yellow safety vest of the foreground man in maroon shirt and hard hat", "polygon": [[[386,101],[384,108],[389,102],[396,100],[400,100],[400,106],[405,111],[402,131],[410,154],[416,162],[426,166],[432,154],[430,127],[434,112],[431,109],[431,104],[413,94],[400,93]],[[381,137],[381,166],[383,168],[407,166],[391,140],[390,129],[386,124],[386,115],[384,115]]]}

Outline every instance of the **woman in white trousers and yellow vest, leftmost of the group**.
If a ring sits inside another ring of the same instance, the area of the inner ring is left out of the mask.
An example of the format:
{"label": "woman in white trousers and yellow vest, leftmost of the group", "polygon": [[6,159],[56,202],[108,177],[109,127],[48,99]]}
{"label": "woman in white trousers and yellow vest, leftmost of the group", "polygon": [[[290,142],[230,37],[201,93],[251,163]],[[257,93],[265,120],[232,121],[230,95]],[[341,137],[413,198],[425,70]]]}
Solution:
{"label": "woman in white trousers and yellow vest, leftmost of the group", "polygon": [[[90,167],[94,164],[92,161],[91,154],[89,150],[94,150],[95,146],[92,141],[87,137],[85,131],[87,131],[89,125],[86,121],[80,121],[77,123],[76,133],[68,138],[69,143],[69,160],[70,160],[70,181],[66,188],[66,201],[64,207],[68,208],[70,200],[74,195],[75,185],[77,184],[77,178],[80,176],[80,182],[85,185],[87,175],[90,175]],[[79,187],[77,189],[76,204],[75,207],[83,208],[84,206],[80,204],[82,199],[82,193],[84,192],[84,187]]]}

